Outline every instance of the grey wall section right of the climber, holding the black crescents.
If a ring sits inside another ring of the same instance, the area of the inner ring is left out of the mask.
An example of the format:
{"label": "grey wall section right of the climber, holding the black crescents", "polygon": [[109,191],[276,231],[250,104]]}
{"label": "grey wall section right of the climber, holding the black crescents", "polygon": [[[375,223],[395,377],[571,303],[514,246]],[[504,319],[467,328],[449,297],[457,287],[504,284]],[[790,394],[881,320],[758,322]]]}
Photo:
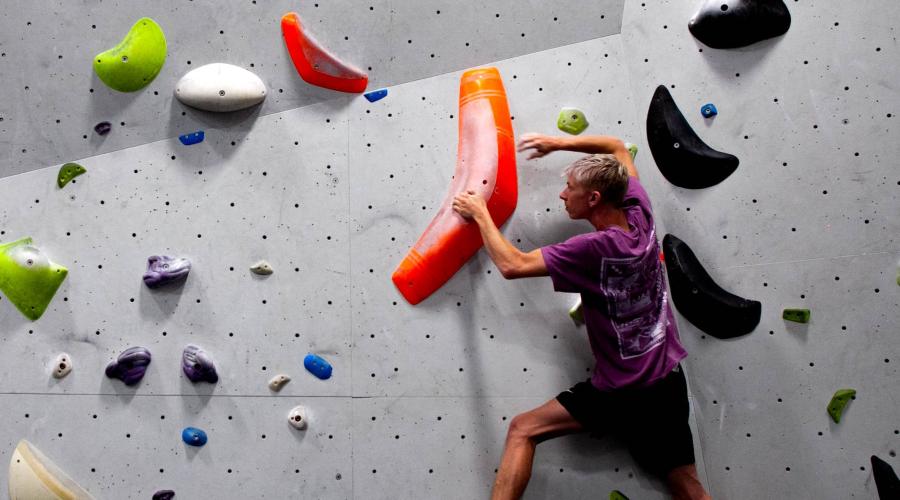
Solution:
{"label": "grey wall section right of the climber, holding the black crescents", "polygon": [[[638,162],[660,234],[762,303],[753,333],[732,340],[679,316],[710,491],[877,498],[869,457],[900,469],[900,11],[790,1],[783,37],[716,50],[687,30],[700,3],[627,2],[622,40],[637,112],[665,85],[707,144],[740,159],[701,190]],[[787,322],[784,308],[812,319]],[[858,393],[835,424],[825,408],[842,388]]]}

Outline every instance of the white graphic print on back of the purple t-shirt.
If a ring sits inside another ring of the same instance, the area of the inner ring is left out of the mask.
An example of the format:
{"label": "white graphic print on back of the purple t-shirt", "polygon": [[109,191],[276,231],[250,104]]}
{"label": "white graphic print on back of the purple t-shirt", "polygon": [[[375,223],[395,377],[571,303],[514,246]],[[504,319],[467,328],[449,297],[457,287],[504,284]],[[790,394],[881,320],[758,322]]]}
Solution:
{"label": "white graphic print on back of the purple t-shirt", "polygon": [[666,339],[667,297],[658,249],[651,233],[642,256],[603,258],[600,264],[600,286],[622,359],[646,354]]}

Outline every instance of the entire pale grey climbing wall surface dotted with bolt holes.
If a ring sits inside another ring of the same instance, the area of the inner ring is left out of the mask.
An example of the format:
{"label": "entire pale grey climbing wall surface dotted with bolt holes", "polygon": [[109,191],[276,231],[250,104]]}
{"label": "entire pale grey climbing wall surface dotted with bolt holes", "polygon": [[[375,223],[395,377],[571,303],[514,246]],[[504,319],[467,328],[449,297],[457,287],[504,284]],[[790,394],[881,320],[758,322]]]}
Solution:
{"label": "entire pale grey climbing wall surface dotted with bolt holes", "polygon": [[[494,65],[516,134],[559,133],[559,108],[577,106],[587,133],[637,143],[658,233],[763,303],[757,329],[732,341],[679,317],[713,496],[874,498],[869,455],[900,470],[900,11],[790,2],[787,35],[723,51],[691,37],[693,4],[17,3],[0,19],[0,241],[33,236],[70,273],[37,322],[0,300],[0,464],[27,438],[100,498],[487,497],[509,420],[593,362],[565,313],[572,297],[548,279],[504,280],[484,252],[415,307],[390,281],[446,194],[461,70]],[[389,96],[301,81],[278,27],[289,10]],[[149,87],[119,94],[90,58],[141,16],[166,31],[169,58]],[[257,73],[265,103],[220,116],[173,99],[211,62]],[[659,84],[741,159],[721,184],[689,191],[659,174],[644,127]],[[704,120],[710,101],[720,115]],[[105,138],[91,130],[101,120],[113,122]],[[176,137],[198,129],[201,144]],[[519,157],[504,232],[520,248],[589,229],[557,198],[576,157]],[[88,173],[59,190],[66,161]],[[141,282],[160,253],[193,261],[182,287]],[[248,272],[261,258],[275,274]],[[813,320],[787,324],[783,307]],[[189,342],[215,359],[215,386],[181,373]],[[128,388],[103,367],[133,345],[154,358]],[[58,381],[61,351],[75,369]],[[303,369],[308,352],[332,362],[332,379]],[[272,394],[276,373],[293,380]],[[835,425],[824,408],[841,387],[859,395]],[[305,432],[286,421],[297,404],[311,412]],[[185,446],[188,425],[210,442]],[[526,497],[611,489],[667,497],[616,441],[570,436],[538,447]]]}

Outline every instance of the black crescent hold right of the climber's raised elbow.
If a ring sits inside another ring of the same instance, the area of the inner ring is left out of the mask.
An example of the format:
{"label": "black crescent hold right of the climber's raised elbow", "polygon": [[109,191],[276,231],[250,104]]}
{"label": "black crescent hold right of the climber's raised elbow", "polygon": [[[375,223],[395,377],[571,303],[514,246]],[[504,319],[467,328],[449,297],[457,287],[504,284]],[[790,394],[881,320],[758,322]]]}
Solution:
{"label": "black crescent hold right of the climber's raised elbow", "polygon": [[664,85],[656,87],[650,101],[647,141],[663,177],[683,188],[714,186],[739,163],[737,157],[716,151],[697,137]]}

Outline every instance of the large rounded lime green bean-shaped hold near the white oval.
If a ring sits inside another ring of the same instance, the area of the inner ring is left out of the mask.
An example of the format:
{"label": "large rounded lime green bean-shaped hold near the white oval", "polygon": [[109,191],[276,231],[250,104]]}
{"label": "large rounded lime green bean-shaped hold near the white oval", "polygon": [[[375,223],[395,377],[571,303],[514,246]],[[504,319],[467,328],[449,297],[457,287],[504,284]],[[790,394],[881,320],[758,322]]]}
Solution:
{"label": "large rounded lime green bean-shaped hold near the white oval", "polygon": [[134,92],[156,78],[166,62],[166,36],[156,21],[142,17],[119,45],[94,57],[94,72],[110,88]]}

